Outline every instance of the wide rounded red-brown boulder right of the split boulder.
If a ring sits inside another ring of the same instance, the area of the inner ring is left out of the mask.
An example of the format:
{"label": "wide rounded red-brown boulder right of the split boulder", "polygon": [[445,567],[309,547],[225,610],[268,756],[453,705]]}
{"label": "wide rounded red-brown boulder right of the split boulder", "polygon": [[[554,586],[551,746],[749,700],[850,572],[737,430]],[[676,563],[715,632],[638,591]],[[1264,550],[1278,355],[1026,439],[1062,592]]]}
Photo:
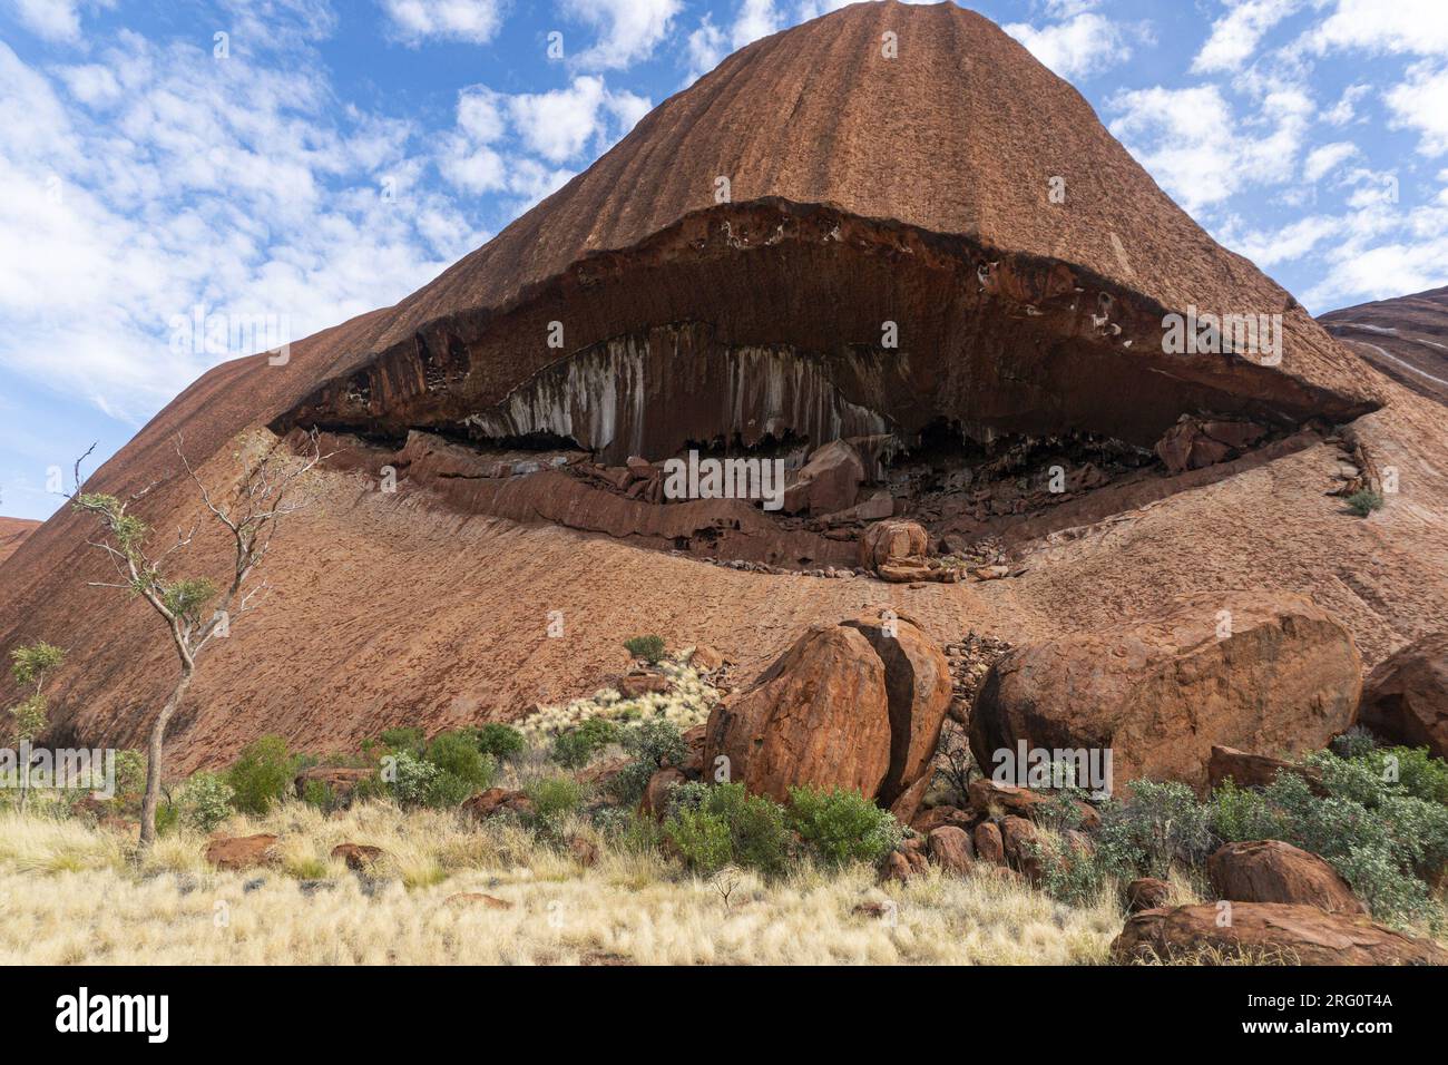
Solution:
{"label": "wide rounded red-brown boulder right of the split boulder", "polygon": [[1352,724],[1363,664],[1337,620],[1295,596],[1193,596],[1157,619],[1019,646],[986,675],[970,746],[1112,755],[1138,777],[1208,787],[1213,746],[1296,753]]}

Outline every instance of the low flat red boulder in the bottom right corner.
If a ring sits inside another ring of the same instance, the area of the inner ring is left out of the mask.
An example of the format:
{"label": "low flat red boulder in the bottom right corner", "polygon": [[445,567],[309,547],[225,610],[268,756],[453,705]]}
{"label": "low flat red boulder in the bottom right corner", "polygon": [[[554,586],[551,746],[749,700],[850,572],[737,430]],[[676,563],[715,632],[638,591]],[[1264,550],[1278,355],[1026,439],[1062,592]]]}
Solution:
{"label": "low flat red boulder in the bottom right corner", "polygon": [[1448,965],[1448,951],[1436,943],[1312,906],[1232,903],[1231,923],[1219,922],[1216,906],[1138,913],[1112,943],[1112,959],[1196,959],[1211,952],[1286,965]]}

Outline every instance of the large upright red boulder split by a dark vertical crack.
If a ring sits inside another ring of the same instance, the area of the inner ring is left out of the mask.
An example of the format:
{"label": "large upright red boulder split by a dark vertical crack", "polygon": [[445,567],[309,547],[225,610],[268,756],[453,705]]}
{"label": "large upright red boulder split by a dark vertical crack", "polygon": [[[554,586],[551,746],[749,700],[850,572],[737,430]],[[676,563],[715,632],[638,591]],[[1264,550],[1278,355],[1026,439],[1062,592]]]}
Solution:
{"label": "large upright red boulder split by a dark vertical crack", "polygon": [[778,800],[849,788],[909,822],[950,706],[950,664],[908,619],[882,611],[801,636],[749,691],[710,716],[704,765]]}

